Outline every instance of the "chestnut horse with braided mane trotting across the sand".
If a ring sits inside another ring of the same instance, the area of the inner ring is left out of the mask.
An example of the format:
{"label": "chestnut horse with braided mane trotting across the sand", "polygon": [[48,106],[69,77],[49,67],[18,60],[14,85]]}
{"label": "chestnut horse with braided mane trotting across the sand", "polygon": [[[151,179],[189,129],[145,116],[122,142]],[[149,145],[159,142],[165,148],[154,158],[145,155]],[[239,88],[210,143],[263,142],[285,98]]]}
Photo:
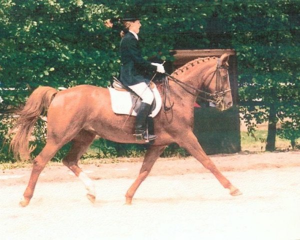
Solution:
{"label": "chestnut horse with braided mane trotting across the sand", "polygon": [[[131,203],[136,189],[149,174],[164,148],[173,142],[185,148],[209,169],[222,186],[229,189],[231,195],[241,194],[216,168],[192,132],[193,105],[198,92],[203,93],[204,89],[206,95],[218,95],[219,100],[215,103],[222,105],[223,109],[232,105],[227,71],[228,57],[228,54],[223,54],[220,58],[197,58],[169,75],[172,110],[160,110],[154,117],[154,132],[158,137],[149,145],[139,174],[125,194],[126,204]],[[158,88],[161,86],[158,85]],[[28,155],[28,139],[43,109],[47,110],[47,140],[44,148],[33,160],[30,179],[20,205],[26,206],[29,203],[40,172],[57,150],[69,141],[72,141],[72,146],[62,162],[83,181],[88,191],[88,199],[94,202],[94,183],[78,167],[78,160],[95,135],[116,142],[143,143],[136,141],[133,135],[135,117],[112,111],[107,88],[78,85],[57,92],[52,87],[41,86],[29,96],[14,126],[15,135],[10,143],[14,153]]]}

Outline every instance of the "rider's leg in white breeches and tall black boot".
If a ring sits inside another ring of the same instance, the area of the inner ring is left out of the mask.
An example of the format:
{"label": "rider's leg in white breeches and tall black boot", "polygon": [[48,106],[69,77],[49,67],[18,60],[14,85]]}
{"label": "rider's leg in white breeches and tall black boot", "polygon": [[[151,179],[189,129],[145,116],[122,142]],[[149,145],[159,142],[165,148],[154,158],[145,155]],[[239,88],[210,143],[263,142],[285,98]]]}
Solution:
{"label": "rider's leg in white breeches and tall black boot", "polygon": [[149,114],[150,106],[154,99],[154,95],[145,82],[140,82],[135,85],[128,86],[142,99],[140,107],[136,112],[135,120],[135,135],[137,139],[153,140],[156,135],[147,134],[146,132],[146,117]]}

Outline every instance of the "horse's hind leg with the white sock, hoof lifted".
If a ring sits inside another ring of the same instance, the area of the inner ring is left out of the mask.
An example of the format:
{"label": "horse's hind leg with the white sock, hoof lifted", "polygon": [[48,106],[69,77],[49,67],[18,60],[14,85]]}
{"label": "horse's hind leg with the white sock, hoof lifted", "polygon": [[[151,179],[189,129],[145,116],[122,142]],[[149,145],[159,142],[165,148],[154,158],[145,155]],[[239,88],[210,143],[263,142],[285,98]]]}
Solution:
{"label": "horse's hind leg with the white sock, hoof lifted", "polygon": [[91,201],[95,201],[95,186],[93,181],[79,168],[78,160],[86,151],[94,139],[95,134],[86,130],[81,130],[78,135],[72,139],[72,146],[67,155],[63,158],[62,162],[66,165],[76,176],[83,182],[87,190],[87,198]]}

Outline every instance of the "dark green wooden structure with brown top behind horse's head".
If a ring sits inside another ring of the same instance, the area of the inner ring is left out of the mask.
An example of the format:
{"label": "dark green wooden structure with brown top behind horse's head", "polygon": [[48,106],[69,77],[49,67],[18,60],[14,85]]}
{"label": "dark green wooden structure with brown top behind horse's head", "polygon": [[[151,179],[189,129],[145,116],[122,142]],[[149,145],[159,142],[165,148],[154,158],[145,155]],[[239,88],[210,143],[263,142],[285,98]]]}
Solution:
{"label": "dark green wooden structure with brown top behind horse's head", "polygon": [[229,78],[233,107],[216,110],[206,104],[194,109],[194,133],[207,154],[233,153],[240,151],[240,122],[238,109],[237,60],[233,49],[188,49],[174,50],[173,68],[178,68],[197,57],[230,54]]}

